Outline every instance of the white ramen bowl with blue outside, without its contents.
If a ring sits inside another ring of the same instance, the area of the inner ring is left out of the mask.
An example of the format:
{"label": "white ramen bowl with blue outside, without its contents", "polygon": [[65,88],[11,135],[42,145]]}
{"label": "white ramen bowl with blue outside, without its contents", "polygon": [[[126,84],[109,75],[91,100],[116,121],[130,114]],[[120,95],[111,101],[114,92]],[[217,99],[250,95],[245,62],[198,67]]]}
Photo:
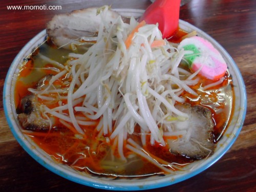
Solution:
{"label": "white ramen bowl with blue outside, without its contents", "polygon": [[[140,16],[143,10],[134,9],[118,9],[116,10],[124,16]],[[87,185],[95,188],[109,189],[109,190],[144,190],[151,188],[159,188],[163,186],[172,185],[186,179],[189,179],[207,169],[209,166],[218,161],[231,147],[234,141],[237,139],[244,122],[246,112],[246,91],[243,78],[240,71],[230,57],[230,55],[224,50],[224,48],[218,44],[217,41],[212,39],[209,35],[201,31],[200,29],[190,25],[189,23],[180,20],[179,26],[182,30],[191,32],[196,30],[198,35],[207,39],[212,45],[220,51],[225,59],[229,73],[233,81],[234,89],[234,110],[231,117],[230,124],[222,139],[218,142],[215,153],[203,160],[195,161],[186,166],[185,171],[176,171],[174,174],[151,176],[145,178],[120,178],[113,179],[108,177],[95,177],[86,173],[78,172],[73,168],[57,163],[48,154],[46,154],[39,146],[37,146],[31,138],[23,134],[22,127],[17,120],[17,114],[14,103],[14,89],[17,81],[17,76],[22,65],[24,58],[26,58],[31,51],[34,50],[41,42],[46,38],[46,31],[40,32],[28,44],[18,53],[13,60],[11,67],[8,71],[5,84],[4,84],[4,110],[5,115],[10,126],[10,129],[18,141],[18,143],[24,148],[24,150],[31,155],[38,163],[51,170],[53,173],[66,178],[68,180]]]}

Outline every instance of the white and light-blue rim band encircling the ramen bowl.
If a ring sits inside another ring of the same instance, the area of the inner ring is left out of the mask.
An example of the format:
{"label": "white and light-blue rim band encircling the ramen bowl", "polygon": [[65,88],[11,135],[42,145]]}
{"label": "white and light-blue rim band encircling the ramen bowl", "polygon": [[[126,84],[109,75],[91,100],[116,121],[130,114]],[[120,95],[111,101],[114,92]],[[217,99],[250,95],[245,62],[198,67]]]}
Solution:
{"label": "white and light-blue rim band encircling the ramen bowl", "polygon": [[[137,15],[142,14],[144,10],[138,10],[138,9],[116,9],[118,12],[125,12],[127,14],[133,14],[136,13]],[[125,15],[125,14],[124,14]],[[218,46],[219,50],[221,50],[222,54],[224,54],[229,63],[232,64],[234,71],[236,72],[237,78],[239,79],[239,87],[241,90],[241,103],[244,104],[244,108],[242,109],[240,113],[240,122],[239,126],[237,127],[236,130],[236,135],[232,137],[232,139],[228,142],[227,145],[222,148],[220,153],[218,154],[217,157],[214,159],[208,159],[206,163],[204,163],[202,166],[199,168],[196,168],[195,170],[189,172],[188,174],[180,174],[178,175],[175,180],[171,180],[172,177],[167,177],[167,179],[161,179],[159,178],[159,182],[153,182],[153,180],[148,180],[145,182],[136,182],[136,180],[132,180],[133,182],[129,183],[124,183],[124,182],[118,182],[118,181],[102,181],[102,180],[96,180],[94,181],[93,179],[86,179],[84,180],[82,176],[77,176],[75,173],[71,173],[71,171],[68,168],[65,168],[65,166],[62,165],[57,165],[53,162],[51,162],[49,159],[45,157],[39,157],[39,153],[35,150],[32,150],[31,148],[31,143],[29,143],[24,137],[22,136],[22,133],[18,131],[19,127],[17,125],[17,120],[14,117],[15,112],[12,109],[12,105],[14,104],[14,101],[11,101],[10,99],[10,94],[11,91],[11,81],[13,78],[13,75],[15,74],[15,70],[17,70],[17,66],[19,65],[19,62],[23,60],[24,52],[31,51],[31,45],[35,45],[37,42],[38,38],[40,37],[45,37],[46,36],[46,30],[41,31],[38,35],[36,35],[33,39],[31,39],[28,44],[18,53],[18,55],[15,57],[13,60],[11,67],[7,73],[7,77],[5,80],[4,84],[4,92],[3,92],[3,103],[4,103],[4,111],[5,111],[5,116],[7,119],[7,122],[10,126],[10,129],[12,131],[12,134],[14,135],[15,139],[18,141],[18,143],[24,148],[24,150],[32,157],[34,158],[38,163],[40,163],[42,166],[46,167],[47,169],[51,170],[51,172],[66,178],[68,180],[74,181],[79,184],[91,186],[94,188],[100,188],[100,189],[108,189],[108,190],[145,190],[145,189],[153,189],[153,188],[159,188],[159,187],[164,187],[168,185],[173,185],[175,183],[187,180],[195,175],[198,175],[199,173],[203,172],[205,169],[207,169],[209,166],[214,164],[216,161],[218,161],[231,147],[231,145],[236,141],[241,129],[242,125],[245,119],[245,114],[246,114],[246,103],[247,103],[247,98],[246,98],[246,90],[245,90],[245,84],[242,78],[242,75],[239,71],[238,66],[234,62],[234,60],[231,58],[231,56],[227,53],[227,51],[217,42],[215,41],[212,37],[198,29],[197,27],[184,22],[183,20],[180,20],[180,24],[187,26],[188,28],[193,28],[194,30],[197,30],[199,33],[203,34],[205,37],[207,37],[207,40],[210,40],[213,42],[215,45]],[[28,50],[30,49],[30,50]],[[9,90],[9,92],[8,92]],[[12,115],[12,116],[10,116]],[[15,131],[15,129],[18,131]],[[67,169],[67,170],[66,170]],[[69,173],[69,175],[67,174]]]}

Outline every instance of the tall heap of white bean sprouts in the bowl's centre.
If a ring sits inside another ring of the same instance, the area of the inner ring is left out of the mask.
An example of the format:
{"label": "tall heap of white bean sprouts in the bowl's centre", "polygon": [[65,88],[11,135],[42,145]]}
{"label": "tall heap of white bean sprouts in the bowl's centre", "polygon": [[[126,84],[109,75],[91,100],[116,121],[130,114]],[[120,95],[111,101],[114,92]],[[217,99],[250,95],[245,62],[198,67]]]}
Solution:
{"label": "tall heap of white bean sprouts in the bowl's centre", "polygon": [[[185,135],[186,131],[172,129],[175,120],[188,116],[176,109],[175,103],[185,101],[181,97],[184,91],[197,95],[189,86],[196,84],[198,78],[197,72],[191,74],[179,67],[188,51],[178,50],[162,39],[157,25],[141,26],[127,47],[125,40],[138,22],[131,17],[129,24],[124,23],[120,16],[107,25],[105,12],[102,9],[99,13],[103,22],[96,43],[84,54],[70,53],[66,63],[51,60],[59,72],[44,88],[29,91],[44,100],[59,100],[59,106],[52,109],[40,106],[46,118],[55,116],[63,124],[72,123],[81,135],[87,134],[85,126],[95,125],[107,142],[116,140],[118,154],[125,160],[124,141],[130,143],[126,148],[131,151],[138,148],[129,139],[136,126],[142,145],[146,135],[150,135],[151,144],[158,142],[163,146],[163,136]],[[164,45],[152,46],[158,40],[164,41]],[[59,79],[62,85],[58,87],[54,82]],[[55,97],[50,96],[54,94]],[[66,104],[61,102],[63,99]],[[63,113],[65,110],[68,114]]]}

